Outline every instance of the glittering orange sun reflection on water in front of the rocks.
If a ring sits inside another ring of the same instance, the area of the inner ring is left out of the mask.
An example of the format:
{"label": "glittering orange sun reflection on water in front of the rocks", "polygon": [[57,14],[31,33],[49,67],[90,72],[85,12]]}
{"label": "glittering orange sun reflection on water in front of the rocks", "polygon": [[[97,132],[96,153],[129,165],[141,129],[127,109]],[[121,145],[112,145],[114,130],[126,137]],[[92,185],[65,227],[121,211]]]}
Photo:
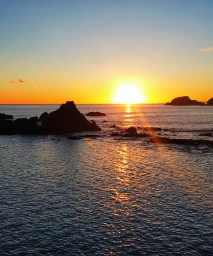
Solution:
{"label": "glittering orange sun reflection on water in front of the rocks", "polygon": [[[129,186],[131,185],[131,171],[129,170],[128,148],[118,147],[114,169],[114,187],[109,188],[112,201],[108,207],[112,210],[112,223],[104,223],[108,229],[106,234],[113,237],[119,237],[119,247],[134,246],[134,237],[127,239],[126,234],[132,232],[129,216],[131,215],[131,194]],[[117,247],[117,245],[116,245]],[[113,247],[106,248],[106,256],[116,254]]]}

